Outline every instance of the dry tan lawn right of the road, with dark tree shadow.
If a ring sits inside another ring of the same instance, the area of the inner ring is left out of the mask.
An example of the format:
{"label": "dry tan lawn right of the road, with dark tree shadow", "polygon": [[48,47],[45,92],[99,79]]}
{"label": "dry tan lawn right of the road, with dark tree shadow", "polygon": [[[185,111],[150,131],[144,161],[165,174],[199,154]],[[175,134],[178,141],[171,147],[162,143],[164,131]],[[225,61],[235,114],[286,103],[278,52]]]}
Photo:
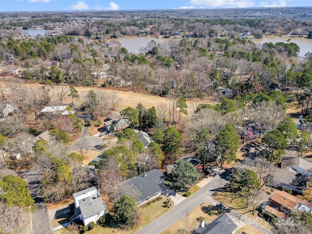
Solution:
{"label": "dry tan lawn right of the road, with dark tree shadow", "polygon": [[[211,215],[209,215],[211,214]],[[173,234],[176,233],[179,229],[186,229],[186,224],[188,226],[188,230],[192,231],[198,227],[199,222],[196,220],[198,217],[204,217],[207,223],[213,221],[217,216],[223,214],[223,211],[219,208],[210,205],[208,203],[204,203],[203,205],[197,206],[193,211],[189,214],[185,214],[185,216],[177,221],[174,225],[168,228],[166,231],[162,232],[162,234]]]}

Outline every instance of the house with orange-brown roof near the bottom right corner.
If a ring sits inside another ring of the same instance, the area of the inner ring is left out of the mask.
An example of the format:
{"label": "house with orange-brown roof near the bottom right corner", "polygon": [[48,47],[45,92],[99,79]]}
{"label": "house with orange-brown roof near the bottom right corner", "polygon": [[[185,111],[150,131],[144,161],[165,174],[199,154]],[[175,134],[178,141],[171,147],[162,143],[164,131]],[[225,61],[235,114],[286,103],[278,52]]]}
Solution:
{"label": "house with orange-brown roof near the bottom right corner", "polygon": [[289,193],[277,190],[267,202],[263,203],[262,209],[277,218],[284,218],[290,215],[293,209],[310,214],[312,208],[303,202]]}

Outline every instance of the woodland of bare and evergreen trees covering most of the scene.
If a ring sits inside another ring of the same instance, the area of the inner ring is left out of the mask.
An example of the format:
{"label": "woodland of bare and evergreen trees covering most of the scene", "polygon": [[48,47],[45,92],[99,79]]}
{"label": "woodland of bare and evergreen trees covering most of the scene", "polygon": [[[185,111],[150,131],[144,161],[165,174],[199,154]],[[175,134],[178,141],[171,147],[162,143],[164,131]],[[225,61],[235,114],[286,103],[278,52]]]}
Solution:
{"label": "woodland of bare and evergreen trees covering most of the scene", "polygon": [[[310,22],[152,16],[86,20],[81,16],[76,17],[74,21],[79,23],[75,25],[60,25],[67,18],[36,16],[0,27],[6,30],[0,37],[1,112],[7,104],[12,108],[1,114],[0,188],[5,192],[0,193],[0,211],[14,213],[13,221],[23,220],[25,209],[34,203],[16,171],[40,171],[41,195],[47,203],[62,202],[98,185],[115,204],[113,220],[131,226],[137,216],[130,214],[123,220],[120,217],[125,214],[118,210],[123,204],[135,207],[138,197],[124,184],[127,179],[164,168],[189,154],[200,159],[203,173],[212,165],[222,168],[237,160],[239,146],[254,139],[247,127],[250,124],[260,126],[261,153],[256,160],[244,161],[246,170],[233,172],[229,186],[247,206],[255,206],[264,185],[274,187],[270,177],[286,149],[303,156],[311,146],[312,54],[299,58],[300,48],[293,42],[261,45],[240,38],[245,32],[258,38],[272,33],[311,38]],[[64,35],[18,37],[22,32],[17,27],[51,23],[61,26]],[[155,36],[166,36],[165,31],[172,36],[176,30],[193,34],[161,43],[151,40],[142,45],[140,54],[129,53],[117,40],[105,38],[138,36],[143,28],[150,28],[149,35]],[[18,72],[7,76],[9,69]],[[80,87],[86,88],[81,91]],[[164,99],[145,107],[122,100],[113,88]],[[286,115],[290,103],[304,117],[301,130]],[[67,105],[70,113],[66,117],[58,112],[41,113],[45,106],[62,105]],[[119,110],[129,120],[129,128],[116,131],[116,145],[99,147],[99,161],[90,163],[96,167],[91,175],[81,167],[88,149],[86,137],[80,137],[84,127],[81,116],[90,116],[85,124],[100,129],[104,117]],[[144,148],[135,130],[147,132],[153,141]],[[34,140],[45,131],[52,143]],[[73,141],[76,151],[70,148]],[[20,158],[14,160],[17,153]],[[172,188],[185,192],[200,176],[194,166],[179,160],[168,177]],[[22,196],[12,194],[9,185],[22,191]],[[310,192],[303,198],[311,201]],[[7,215],[0,221],[2,232],[9,233],[10,218]]]}

